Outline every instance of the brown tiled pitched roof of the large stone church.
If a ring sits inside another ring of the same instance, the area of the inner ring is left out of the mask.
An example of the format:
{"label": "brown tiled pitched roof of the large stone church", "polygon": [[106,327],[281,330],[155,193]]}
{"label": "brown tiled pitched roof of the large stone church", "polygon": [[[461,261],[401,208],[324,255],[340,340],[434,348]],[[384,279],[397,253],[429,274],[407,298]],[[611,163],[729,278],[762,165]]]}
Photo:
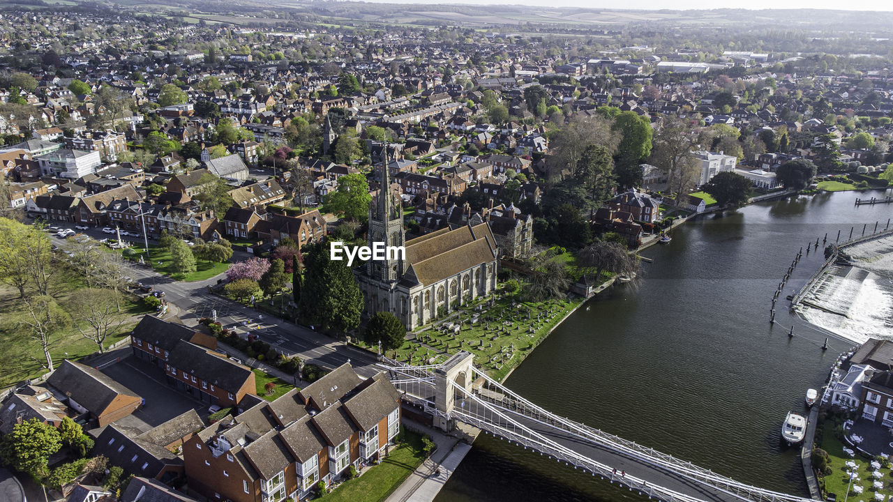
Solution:
{"label": "brown tiled pitched roof of the large stone church", "polygon": [[438,230],[406,242],[406,261],[421,284],[433,284],[496,257],[496,239],[487,223]]}

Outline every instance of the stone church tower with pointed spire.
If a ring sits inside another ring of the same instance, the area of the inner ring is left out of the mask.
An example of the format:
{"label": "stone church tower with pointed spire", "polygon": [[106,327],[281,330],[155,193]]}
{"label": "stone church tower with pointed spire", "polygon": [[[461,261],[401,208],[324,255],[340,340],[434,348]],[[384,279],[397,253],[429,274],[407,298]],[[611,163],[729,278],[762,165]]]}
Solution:
{"label": "stone church tower with pointed spire", "polygon": [[[391,189],[389,161],[386,156],[380,172],[379,195],[369,208],[370,247],[376,242],[383,242],[385,246],[405,246],[406,243],[403,207],[400,205],[399,197],[396,197],[394,190]],[[405,272],[404,260],[400,258],[387,261],[370,260],[366,267],[371,279],[382,282],[396,282]]]}

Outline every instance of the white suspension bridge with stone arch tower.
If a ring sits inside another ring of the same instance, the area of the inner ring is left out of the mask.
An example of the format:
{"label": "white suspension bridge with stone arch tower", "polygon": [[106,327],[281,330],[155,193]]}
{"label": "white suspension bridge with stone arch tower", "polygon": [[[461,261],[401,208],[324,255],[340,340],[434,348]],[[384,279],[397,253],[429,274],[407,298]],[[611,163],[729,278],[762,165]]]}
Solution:
{"label": "white suspension bridge with stone arch tower", "polygon": [[449,431],[465,423],[574,469],[665,502],[806,502],[761,489],[553,414],[506,389],[462,351],[443,364],[412,366],[383,358],[380,367],[405,401]]}

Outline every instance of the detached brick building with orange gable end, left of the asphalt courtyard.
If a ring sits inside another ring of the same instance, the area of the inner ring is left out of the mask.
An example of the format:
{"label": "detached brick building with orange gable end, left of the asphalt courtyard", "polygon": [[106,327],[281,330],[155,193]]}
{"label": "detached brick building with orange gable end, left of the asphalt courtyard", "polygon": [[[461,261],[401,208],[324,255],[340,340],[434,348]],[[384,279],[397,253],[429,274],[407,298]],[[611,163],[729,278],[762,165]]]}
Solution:
{"label": "detached brick building with orange gable end, left of the asphalt courtyard", "polygon": [[121,419],[142,404],[143,398],[86,364],[65,360],[46,383],[67,397],[67,405],[89,414],[99,427]]}

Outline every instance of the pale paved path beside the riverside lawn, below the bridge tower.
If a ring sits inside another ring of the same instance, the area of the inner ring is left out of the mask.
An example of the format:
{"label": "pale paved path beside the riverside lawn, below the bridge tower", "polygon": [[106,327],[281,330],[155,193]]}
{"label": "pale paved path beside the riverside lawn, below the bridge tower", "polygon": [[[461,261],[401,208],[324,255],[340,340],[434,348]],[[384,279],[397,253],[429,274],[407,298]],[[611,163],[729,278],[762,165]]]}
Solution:
{"label": "pale paved path beside the riverside lawn, below the bridge tower", "polygon": [[472,449],[468,439],[473,438],[467,438],[459,431],[445,434],[405,419],[403,423],[411,431],[421,431],[430,435],[437,448],[385,499],[385,502],[431,502]]}

